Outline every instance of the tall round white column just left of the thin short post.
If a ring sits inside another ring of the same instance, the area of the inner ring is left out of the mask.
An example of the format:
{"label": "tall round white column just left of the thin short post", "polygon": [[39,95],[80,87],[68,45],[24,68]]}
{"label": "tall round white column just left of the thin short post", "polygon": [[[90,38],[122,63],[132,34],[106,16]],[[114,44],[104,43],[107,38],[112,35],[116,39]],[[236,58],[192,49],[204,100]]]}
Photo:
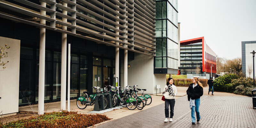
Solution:
{"label": "tall round white column just left of the thin short post", "polygon": [[[67,3],[62,3],[67,7]],[[67,11],[62,10],[62,13],[67,15]],[[62,18],[63,22],[67,22],[66,18]],[[62,26],[62,30],[66,31],[67,26]],[[61,93],[60,93],[60,110],[66,110],[66,79],[67,79],[67,34],[62,33],[61,38]]]}

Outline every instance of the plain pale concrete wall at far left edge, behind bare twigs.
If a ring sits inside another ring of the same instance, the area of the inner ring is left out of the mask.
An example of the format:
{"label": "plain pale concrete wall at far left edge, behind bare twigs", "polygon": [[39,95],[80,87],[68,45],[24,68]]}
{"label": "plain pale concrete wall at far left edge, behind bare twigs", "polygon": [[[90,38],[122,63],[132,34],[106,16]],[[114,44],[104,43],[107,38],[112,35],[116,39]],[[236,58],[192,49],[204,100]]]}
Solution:
{"label": "plain pale concrete wall at far left edge, behind bare twigs", "polygon": [[8,57],[1,59],[9,63],[4,70],[0,67],[0,112],[10,114],[19,111],[20,40],[0,37],[0,46],[4,44],[10,49]]}

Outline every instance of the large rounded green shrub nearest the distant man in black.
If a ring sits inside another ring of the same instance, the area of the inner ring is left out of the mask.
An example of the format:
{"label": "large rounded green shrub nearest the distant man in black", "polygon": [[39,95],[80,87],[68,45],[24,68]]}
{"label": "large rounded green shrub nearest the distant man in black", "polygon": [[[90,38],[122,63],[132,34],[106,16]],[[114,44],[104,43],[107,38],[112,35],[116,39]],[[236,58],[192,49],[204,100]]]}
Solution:
{"label": "large rounded green shrub nearest the distant man in black", "polygon": [[[232,79],[237,79],[235,74],[225,74],[216,78],[213,82],[213,90],[219,92],[226,92],[227,88],[224,86],[225,84],[230,84]],[[229,86],[229,85],[226,85]],[[234,90],[234,89],[233,89]],[[232,90],[230,90],[232,92]]]}

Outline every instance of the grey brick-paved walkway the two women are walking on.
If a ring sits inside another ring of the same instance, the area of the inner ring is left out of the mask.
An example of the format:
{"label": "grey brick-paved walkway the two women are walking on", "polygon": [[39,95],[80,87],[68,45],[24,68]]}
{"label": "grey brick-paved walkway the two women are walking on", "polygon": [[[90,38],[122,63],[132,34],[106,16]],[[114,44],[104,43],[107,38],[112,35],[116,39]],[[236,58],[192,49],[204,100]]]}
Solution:
{"label": "grey brick-paved walkway the two women are walking on", "polygon": [[209,96],[201,97],[200,115],[196,125],[191,124],[187,96],[175,99],[173,122],[164,123],[164,104],[125,116],[97,128],[164,128],[164,127],[256,127],[256,109],[252,109],[252,98],[247,96]]}

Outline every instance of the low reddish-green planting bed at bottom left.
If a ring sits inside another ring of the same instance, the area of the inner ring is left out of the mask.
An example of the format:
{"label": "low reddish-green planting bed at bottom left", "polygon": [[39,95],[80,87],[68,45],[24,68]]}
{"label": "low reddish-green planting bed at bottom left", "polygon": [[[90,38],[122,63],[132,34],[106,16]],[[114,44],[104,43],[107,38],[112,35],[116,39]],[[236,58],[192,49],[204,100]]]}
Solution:
{"label": "low reddish-green planting bed at bottom left", "polygon": [[107,120],[105,115],[62,111],[0,124],[0,128],[86,128]]}

